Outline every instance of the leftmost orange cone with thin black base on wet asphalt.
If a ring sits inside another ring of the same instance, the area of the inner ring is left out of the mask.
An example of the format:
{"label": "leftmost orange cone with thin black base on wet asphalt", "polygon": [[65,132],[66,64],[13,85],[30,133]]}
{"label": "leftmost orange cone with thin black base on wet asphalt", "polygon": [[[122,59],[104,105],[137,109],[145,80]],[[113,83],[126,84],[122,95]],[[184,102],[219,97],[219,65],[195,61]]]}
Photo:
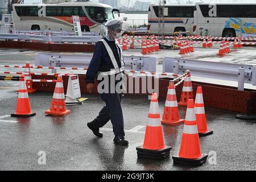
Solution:
{"label": "leftmost orange cone with thin black base on wet asphalt", "polygon": [[31,112],[30,99],[28,98],[25,78],[23,75],[20,75],[16,111],[14,114],[11,114],[11,116],[12,117],[31,117],[33,115],[36,115],[36,113]]}

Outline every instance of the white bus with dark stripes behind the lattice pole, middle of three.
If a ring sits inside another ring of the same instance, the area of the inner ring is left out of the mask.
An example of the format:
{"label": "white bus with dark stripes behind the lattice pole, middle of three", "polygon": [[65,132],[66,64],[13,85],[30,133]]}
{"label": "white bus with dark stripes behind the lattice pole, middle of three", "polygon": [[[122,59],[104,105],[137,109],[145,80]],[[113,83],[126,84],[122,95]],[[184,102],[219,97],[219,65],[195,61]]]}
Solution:
{"label": "white bus with dark stripes behind the lattice pole, middle of three", "polygon": [[[164,34],[174,32],[193,32],[193,16],[195,5],[170,4],[164,9]],[[150,4],[148,8],[148,30],[158,34],[159,6]]]}

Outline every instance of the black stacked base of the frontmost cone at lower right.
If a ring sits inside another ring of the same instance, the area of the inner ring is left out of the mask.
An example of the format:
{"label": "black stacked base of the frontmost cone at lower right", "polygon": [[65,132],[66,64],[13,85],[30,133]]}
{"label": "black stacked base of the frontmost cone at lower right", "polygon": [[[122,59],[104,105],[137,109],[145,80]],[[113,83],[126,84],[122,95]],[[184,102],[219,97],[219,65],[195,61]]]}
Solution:
{"label": "black stacked base of the frontmost cone at lower right", "polygon": [[208,157],[207,154],[203,154],[203,156],[198,159],[186,159],[186,158],[180,158],[179,156],[172,156],[172,159],[174,160],[174,164],[201,166],[207,161],[207,157]]}

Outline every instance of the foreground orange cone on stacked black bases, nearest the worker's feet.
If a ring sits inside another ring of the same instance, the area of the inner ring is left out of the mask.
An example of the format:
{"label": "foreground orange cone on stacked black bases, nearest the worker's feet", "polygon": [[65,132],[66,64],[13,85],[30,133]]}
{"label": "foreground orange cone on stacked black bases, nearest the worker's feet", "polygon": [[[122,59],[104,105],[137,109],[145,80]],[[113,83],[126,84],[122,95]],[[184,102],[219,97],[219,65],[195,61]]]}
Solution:
{"label": "foreground orange cone on stacked black bases, nearest the worker's feet", "polygon": [[143,146],[136,147],[138,158],[166,159],[170,146],[164,145],[163,130],[160,122],[158,96],[152,93],[148,122]]}

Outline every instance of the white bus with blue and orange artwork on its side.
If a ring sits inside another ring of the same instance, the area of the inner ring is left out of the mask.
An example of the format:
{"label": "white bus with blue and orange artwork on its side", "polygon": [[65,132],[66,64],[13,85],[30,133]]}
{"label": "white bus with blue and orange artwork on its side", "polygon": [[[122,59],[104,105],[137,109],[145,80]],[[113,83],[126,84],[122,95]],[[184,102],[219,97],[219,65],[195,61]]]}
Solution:
{"label": "white bus with blue and orange artwork on its side", "polygon": [[194,34],[237,37],[255,34],[256,3],[196,3]]}

